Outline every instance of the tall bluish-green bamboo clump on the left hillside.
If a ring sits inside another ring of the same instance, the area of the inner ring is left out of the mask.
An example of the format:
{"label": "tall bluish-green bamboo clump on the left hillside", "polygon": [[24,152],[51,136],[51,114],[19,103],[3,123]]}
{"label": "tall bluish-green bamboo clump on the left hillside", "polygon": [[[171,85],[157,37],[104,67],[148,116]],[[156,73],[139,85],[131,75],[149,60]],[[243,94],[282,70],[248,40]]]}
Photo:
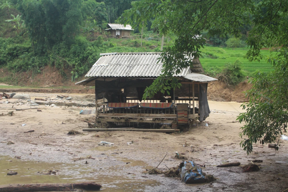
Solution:
{"label": "tall bluish-green bamboo clump on the left hillside", "polygon": [[82,21],[81,1],[23,0],[18,5],[37,52],[49,50],[55,43],[69,43],[79,33]]}

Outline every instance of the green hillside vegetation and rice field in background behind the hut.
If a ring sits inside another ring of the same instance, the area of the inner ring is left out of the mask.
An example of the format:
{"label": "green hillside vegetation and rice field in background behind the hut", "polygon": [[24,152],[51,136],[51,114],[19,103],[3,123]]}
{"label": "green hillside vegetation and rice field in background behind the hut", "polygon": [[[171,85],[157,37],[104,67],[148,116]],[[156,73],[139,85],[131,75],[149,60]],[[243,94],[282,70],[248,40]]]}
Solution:
{"label": "green hillside vegetation and rice field in background behind the hut", "polygon": [[[72,81],[85,75],[103,52],[159,52],[161,31],[154,18],[145,22],[143,43],[139,36],[133,39],[107,39],[103,29],[114,22],[126,9],[130,0],[0,0],[0,67],[11,72],[41,73],[44,66],[55,66],[59,73]],[[245,76],[253,77],[258,70],[271,71],[265,60],[249,62],[245,39],[250,25],[241,29],[242,36],[213,35],[212,45],[201,49],[201,62],[206,74],[218,77],[225,64],[239,59]],[[141,29],[140,29],[141,30]],[[139,28],[132,35],[140,35]],[[209,34],[204,32],[203,37]],[[165,33],[164,50],[174,45],[177,36]],[[220,46],[220,47],[212,47]],[[233,48],[225,48],[233,47]],[[234,48],[241,47],[241,48]],[[266,56],[268,50],[262,50]],[[0,78],[0,81],[9,79]]]}

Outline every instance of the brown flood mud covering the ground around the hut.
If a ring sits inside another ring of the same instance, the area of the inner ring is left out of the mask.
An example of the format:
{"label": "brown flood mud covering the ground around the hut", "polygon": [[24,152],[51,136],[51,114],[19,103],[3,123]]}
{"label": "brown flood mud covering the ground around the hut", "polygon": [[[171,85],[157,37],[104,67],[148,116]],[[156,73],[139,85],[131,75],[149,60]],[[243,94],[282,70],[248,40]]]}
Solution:
{"label": "brown flood mud covering the ground around the hut", "polygon": [[[30,94],[31,100],[56,98],[56,94]],[[71,95],[74,103],[93,101],[93,95]],[[82,132],[88,128],[87,123],[79,119],[93,119],[93,115],[80,115],[79,111],[89,107],[40,105],[37,108],[41,112],[37,109],[16,111],[15,108],[29,108],[26,101],[22,101],[22,105],[16,101],[0,101],[3,102],[0,104],[0,114],[3,113],[0,116],[0,185],[93,181],[103,186],[101,191],[284,191],[288,188],[288,141],[281,141],[278,152],[267,145],[254,145],[253,153],[247,156],[239,146],[241,124],[235,122],[243,112],[240,103],[209,101],[210,117],[185,133],[117,131],[68,135],[71,129]],[[10,111],[14,111],[13,116],[6,115]],[[22,126],[23,123],[26,125]],[[35,131],[24,133],[29,130]],[[132,140],[132,145],[126,144]],[[14,144],[7,145],[8,141]],[[114,145],[98,146],[100,141]],[[183,147],[185,142],[189,147]],[[178,166],[181,160],[173,158],[176,151],[185,153],[197,164],[205,164],[203,171],[213,174],[217,180],[187,185],[162,174],[143,173],[157,166],[166,154],[158,168],[167,170],[166,166]],[[263,160],[257,172],[241,172],[241,167],[216,167],[234,161],[245,165],[255,159]],[[18,174],[7,175],[10,170]],[[48,170],[56,174],[44,174]]]}

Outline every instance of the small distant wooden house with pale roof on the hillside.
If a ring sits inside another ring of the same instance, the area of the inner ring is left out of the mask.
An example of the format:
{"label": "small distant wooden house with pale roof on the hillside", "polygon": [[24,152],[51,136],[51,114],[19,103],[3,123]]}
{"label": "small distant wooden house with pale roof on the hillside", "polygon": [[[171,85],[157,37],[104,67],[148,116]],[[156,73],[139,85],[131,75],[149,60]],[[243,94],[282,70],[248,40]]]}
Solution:
{"label": "small distant wooden house with pale roof on the hillside", "polygon": [[134,31],[130,25],[122,25],[122,24],[113,24],[108,23],[107,29],[105,31],[108,31],[110,34],[110,37],[114,38],[126,38],[130,37],[130,31]]}

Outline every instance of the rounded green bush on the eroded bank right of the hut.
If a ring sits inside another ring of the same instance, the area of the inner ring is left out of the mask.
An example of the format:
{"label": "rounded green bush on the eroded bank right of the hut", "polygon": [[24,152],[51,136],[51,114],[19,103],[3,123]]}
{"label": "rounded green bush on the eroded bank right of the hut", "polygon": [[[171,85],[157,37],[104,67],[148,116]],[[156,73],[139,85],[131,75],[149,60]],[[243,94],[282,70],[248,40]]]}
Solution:
{"label": "rounded green bush on the eroded bank right of the hut", "polygon": [[243,80],[244,74],[241,69],[241,64],[239,59],[234,63],[225,64],[222,72],[218,75],[220,81],[225,82],[228,86],[237,85]]}

